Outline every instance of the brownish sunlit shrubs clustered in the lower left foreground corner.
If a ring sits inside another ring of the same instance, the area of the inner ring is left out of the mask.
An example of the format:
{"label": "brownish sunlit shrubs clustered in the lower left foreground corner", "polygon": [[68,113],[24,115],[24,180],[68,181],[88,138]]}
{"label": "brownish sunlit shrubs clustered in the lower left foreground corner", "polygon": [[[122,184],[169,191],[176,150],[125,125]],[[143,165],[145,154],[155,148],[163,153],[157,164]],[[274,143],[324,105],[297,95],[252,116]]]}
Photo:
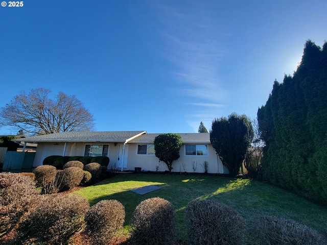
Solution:
{"label": "brownish sunlit shrubs clustered in the lower left foreground corner", "polygon": [[[125,210],[116,200],[90,208],[79,195],[41,195],[35,187],[27,176],[0,174],[1,244],[68,244],[84,228],[95,244],[107,244],[122,228]],[[6,239],[14,227],[15,236]]]}

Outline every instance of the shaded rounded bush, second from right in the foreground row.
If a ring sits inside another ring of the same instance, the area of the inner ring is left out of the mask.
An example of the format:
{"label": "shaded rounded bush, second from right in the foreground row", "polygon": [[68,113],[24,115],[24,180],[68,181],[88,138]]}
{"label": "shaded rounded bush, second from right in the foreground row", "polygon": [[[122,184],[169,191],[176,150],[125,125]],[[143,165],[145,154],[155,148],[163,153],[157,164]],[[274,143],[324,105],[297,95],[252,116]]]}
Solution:
{"label": "shaded rounded bush, second from right in the foreground row", "polygon": [[192,201],[186,207],[190,244],[243,244],[245,222],[233,208],[213,200]]}

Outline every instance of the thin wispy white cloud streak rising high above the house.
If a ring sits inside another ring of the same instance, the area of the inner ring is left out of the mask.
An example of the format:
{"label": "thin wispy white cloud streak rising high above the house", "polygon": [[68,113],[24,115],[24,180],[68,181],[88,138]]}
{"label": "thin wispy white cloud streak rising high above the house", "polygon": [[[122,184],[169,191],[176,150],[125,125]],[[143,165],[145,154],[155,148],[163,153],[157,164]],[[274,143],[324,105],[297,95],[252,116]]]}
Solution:
{"label": "thin wispy white cloud streak rising high above the house", "polygon": [[156,2],[155,10],[162,41],[159,53],[174,67],[170,74],[176,83],[169,90],[182,96],[185,104],[194,106],[193,110],[185,110],[185,116],[197,132],[200,121],[206,127],[211,125],[228,100],[219,76],[220,66],[228,55],[222,44],[225,37],[220,23],[215,22],[216,13],[202,2],[188,7]]}

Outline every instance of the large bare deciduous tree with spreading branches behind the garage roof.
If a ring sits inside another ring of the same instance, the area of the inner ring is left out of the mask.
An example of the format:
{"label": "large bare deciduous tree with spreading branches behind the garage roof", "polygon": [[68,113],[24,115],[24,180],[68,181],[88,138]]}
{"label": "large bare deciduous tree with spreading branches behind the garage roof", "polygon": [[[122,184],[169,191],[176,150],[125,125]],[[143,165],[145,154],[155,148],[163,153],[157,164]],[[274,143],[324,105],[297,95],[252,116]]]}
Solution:
{"label": "large bare deciduous tree with spreading branches behind the garage roof", "polygon": [[49,89],[25,91],[1,108],[2,126],[17,127],[28,134],[52,134],[69,131],[90,131],[94,128],[92,114],[74,95],[59,92],[56,101],[48,98]]}

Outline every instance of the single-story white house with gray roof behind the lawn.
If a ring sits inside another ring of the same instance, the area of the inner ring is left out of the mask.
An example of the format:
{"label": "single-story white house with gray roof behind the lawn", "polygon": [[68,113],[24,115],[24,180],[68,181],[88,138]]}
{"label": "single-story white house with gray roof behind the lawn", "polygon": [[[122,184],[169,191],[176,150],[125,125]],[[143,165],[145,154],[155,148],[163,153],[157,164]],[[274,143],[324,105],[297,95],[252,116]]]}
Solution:
{"label": "single-story white house with gray roof behind the lawn", "polygon": [[[145,171],[166,171],[166,163],[155,156],[153,142],[157,135],[146,131],[62,132],[27,137],[24,142],[37,143],[33,167],[42,165],[44,158],[52,155],[107,156],[108,169],[141,167]],[[207,164],[207,173],[228,173],[211,145],[209,133],[179,135],[183,143],[172,171],[203,173]]]}

